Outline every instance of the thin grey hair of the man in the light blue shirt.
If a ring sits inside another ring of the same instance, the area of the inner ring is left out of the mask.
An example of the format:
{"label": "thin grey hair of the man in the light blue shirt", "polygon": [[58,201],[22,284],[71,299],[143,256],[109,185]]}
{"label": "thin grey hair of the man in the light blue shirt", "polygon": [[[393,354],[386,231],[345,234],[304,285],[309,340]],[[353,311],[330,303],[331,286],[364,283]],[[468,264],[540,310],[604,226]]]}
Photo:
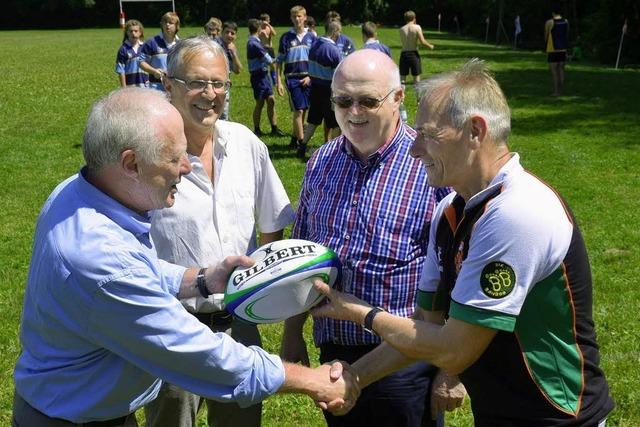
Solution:
{"label": "thin grey hair of the man in the light blue shirt", "polygon": [[98,172],[117,163],[129,149],[144,162],[157,163],[164,144],[158,141],[151,118],[167,107],[163,92],[136,87],[114,90],[96,101],[82,138],[87,167]]}

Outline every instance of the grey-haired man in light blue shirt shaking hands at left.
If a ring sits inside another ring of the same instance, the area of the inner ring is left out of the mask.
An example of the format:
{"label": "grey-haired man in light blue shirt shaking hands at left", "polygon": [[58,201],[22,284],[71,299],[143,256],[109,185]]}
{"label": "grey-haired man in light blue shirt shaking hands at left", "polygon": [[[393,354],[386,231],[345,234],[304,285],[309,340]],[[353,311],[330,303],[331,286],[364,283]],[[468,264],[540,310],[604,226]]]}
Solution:
{"label": "grey-haired man in light blue shirt shaking hands at left", "polygon": [[283,364],[215,334],[178,298],[222,292],[245,256],[208,269],[158,259],[151,209],[170,207],[191,166],[178,111],[158,91],[120,89],[92,108],[86,166],[58,187],[36,226],[14,371],[14,426],[109,421],[136,425],[161,379],[221,401],[255,404],[278,391],[320,405],[357,397],[330,366]]}

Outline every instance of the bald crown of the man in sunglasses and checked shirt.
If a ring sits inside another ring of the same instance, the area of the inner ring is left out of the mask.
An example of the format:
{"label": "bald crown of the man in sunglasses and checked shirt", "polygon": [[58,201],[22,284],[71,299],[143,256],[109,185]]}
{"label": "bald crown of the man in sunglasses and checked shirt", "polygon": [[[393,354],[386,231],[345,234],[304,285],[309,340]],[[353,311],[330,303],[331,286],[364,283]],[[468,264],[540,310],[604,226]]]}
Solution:
{"label": "bald crown of the man in sunglasses and checked shirt", "polygon": [[378,82],[380,76],[387,83],[390,90],[400,86],[400,72],[391,58],[373,49],[357,50],[347,56],[336,68],[331,88],[344,81],[350,82]]}

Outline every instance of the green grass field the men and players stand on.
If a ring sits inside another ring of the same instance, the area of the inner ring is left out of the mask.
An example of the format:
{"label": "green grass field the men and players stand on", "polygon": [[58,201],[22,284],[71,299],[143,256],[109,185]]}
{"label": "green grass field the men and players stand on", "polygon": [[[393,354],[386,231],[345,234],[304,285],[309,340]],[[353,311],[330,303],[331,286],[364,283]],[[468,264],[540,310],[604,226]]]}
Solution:
{"label": "green grass field the men and players stand on", "polygon": [[[280,32],[284,28],[279,29]],[[345,32],[361,45],[358,29]],[[147,37],[157,29],[147,28]],[[397,59],[395,29],[380,39]],[[199,29],[183,28],[181,35]],[[238,46],[246,67],[246,30]],[[594,318],[616,410],[607,425],[640,425],[640,73],[591,64],[568,65],[566,96],[552,98],[545,56],[429,33],[436,45],[423,57],[423,75],[451,69],[478,56],[489,62],[513,111],[511,147],[522,162],[566,198],[591,256]],[[18,326],[35,220],[44,200],[82,165],[81,136],[89,106],[117,86],[113,72],[122,40],[118,29],[0,32],[0,425],[9,425],[13,365],[20,351]],[[247,72],[233,76],[231,117],[249,127],[253,99]],[[280,127],[291,131],[284,99]],[[410,121],[415,95],[408,90]],[[263,130],[267,130],[263,117]],[[313,145],[320,144],[320,131]],[[297,203],[304,164],[288,138],[266,137],[292,202]],[[307,325],[307,335],[309,329]],[[264,346],[279,349],[281,326],[262,328]],[[316,354],[310,346],[310,352]],[[317,360],[317,358],[316,358]],[[323,425],[309,399],[278,396],[264,405],[265,426]],[[448,425],[472,424],[468,402]],[[203,424],[204,425],[204,424]]]}

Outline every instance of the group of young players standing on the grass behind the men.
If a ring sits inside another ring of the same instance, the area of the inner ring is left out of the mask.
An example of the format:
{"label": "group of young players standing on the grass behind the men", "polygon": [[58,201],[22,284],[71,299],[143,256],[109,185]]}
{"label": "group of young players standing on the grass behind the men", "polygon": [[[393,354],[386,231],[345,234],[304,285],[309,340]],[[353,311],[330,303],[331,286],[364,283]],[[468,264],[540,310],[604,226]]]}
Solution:
{"label": "group of young players standing on the grass behind the men", "polygon": [[[355,51],[355,44],[342,34],[340,14],[335,11],[329,11],[325,17],[324,36],[316,33],[316,21],[307,16],[304,7],[293,6],[290,17],[293,27],[280,36],[277,54],[274,50],[277,31],[271,26],[269,15],[263,13],[259,19],[248,20],[247,64],[256,102],[252,118],[254,133],[264,135],[260,121],[266,104],[270,134],[284,136],[277,124],[274,92],[284,96],[286,87],[292,111],[290,147],[296,150],[298,157],[305,158],[307,143],[318,125],[324,122],[325,141],[340,133],[331,108],[331,77],[338,63]],[[416,24],[414,12],[407,11],[404,19],[405,25],[400,28],[402,52],[399,63],[403,84],[409,74],[414,81],[420,79],[419,45],[434,48]],[[160,34],[144,41],[144,27],[140,21],[131,19],[125,23],[124,39],[118,50],[115,67],[121,86],[163,90],[167,52],[178,40],[180,18],[174,12],[167,12],[160,20],[160,27]],[[389,47],[377,39],[376,24],[365,22],[361,28],[363,49],[380,50],[391,57]],[[211,18],[204,25],[204,31],[225,50],[229,72],[239,74],[243,66],[235,46],[238,25],[233,21],[223,23],[218,18]],[[223,120],[229,120],[229,101],[230,91],[227,92],[224,112],[220,117]]]}

